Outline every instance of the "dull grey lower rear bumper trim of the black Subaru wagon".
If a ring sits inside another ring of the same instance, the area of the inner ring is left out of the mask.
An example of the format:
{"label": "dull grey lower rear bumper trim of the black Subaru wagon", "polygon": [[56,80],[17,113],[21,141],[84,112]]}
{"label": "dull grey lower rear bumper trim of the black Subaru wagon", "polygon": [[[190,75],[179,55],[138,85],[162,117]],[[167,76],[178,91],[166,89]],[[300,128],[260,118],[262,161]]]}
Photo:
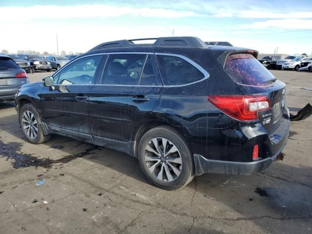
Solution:
{"label": "dull grey lower rear bumper trim of the black Subaru wagon", "polygon": [[267,169],[275,159],[280,159],[280,155],[282,154],[281,152],[283,151],[283,149],[272,157],[268,157],[254,162],[219,161],[207,159],[201,155],[194,155],[196,176],[200,176],[204,173],[230,175],[255,174]]}

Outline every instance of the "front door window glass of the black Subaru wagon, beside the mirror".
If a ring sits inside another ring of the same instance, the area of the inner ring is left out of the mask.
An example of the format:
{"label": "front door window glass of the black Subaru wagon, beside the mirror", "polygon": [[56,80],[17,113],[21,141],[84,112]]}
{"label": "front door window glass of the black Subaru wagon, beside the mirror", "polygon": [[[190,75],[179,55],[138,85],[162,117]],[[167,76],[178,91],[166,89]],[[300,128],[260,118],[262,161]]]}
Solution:
{"label": "front door window glass of the black Subaru wagon, beside the mirror", "polygon": [[100,60],[101,56],[90,56],[69,64],[61,71],[57,84],[95,84]]}

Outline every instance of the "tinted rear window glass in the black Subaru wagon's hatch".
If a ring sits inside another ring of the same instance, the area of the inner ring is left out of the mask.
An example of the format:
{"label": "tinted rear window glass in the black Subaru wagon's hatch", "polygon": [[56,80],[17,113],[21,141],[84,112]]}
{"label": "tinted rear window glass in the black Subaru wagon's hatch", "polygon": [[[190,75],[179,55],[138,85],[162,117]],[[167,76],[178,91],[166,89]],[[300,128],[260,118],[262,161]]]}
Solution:
{"label": "tinted rear window glass in the black Subaru wagon's hatch", "polygon": [[225,71],[239,84],[262,86],[275,77],[251,54],[234,54],[226,59]]}

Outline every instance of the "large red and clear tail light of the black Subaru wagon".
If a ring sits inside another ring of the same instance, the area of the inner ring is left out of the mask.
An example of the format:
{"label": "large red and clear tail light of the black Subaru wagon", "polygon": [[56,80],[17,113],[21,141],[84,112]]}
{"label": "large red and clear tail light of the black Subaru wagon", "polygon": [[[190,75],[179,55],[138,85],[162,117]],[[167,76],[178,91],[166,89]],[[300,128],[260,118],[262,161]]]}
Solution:
{"label": "large red and clear tail light of the black Subaru wagon", "polygon": [[270,109],[267,96],[208,96],[208,100],[225,114],[241,121],[258,119],[258,111]]}

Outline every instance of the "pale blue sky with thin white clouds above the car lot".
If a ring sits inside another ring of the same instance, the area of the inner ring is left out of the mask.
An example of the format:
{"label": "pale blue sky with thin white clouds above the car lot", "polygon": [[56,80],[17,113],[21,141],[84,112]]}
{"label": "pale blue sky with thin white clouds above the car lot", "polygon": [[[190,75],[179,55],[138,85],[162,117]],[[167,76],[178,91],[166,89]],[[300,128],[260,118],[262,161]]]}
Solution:
{"label": "pale blue sky with thin white clouds above the car lot", "polygon": [[[298,4],[297,4],[298,3]],[[86,52],[118,39],[195,36],[312,54],[312,1],[0,0],[0,51]]]}

